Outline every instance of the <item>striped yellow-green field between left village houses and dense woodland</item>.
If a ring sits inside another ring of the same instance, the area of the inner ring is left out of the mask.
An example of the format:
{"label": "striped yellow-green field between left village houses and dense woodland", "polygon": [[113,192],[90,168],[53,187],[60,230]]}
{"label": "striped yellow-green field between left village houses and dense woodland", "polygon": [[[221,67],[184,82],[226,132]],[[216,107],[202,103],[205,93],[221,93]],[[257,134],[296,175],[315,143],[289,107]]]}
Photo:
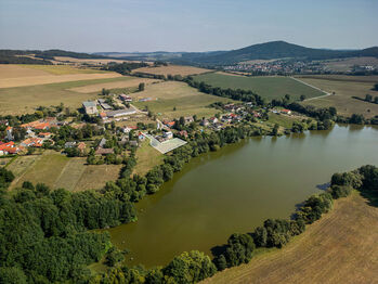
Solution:
{"label": "striped yellow-green field between left village houses and dense woodland", "polygon": [[107,181],[118,178],[120,168],[121,165],[88,166],[86,158],[68,158],[52,151],[43,155],[21,156],[8,167],[16,177],[11,189],[31,181],[68,191],[101,189]]}

